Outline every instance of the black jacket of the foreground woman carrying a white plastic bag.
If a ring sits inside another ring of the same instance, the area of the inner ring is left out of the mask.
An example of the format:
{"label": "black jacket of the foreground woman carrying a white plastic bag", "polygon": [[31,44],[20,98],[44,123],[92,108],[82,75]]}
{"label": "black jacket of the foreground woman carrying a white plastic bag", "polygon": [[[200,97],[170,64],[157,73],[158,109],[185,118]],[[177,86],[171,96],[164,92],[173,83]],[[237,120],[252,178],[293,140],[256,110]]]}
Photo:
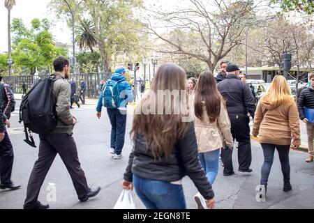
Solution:
{"label": "black jacket of the foreground woman carrying a white plastic bag", "polygon": [[154,159],[150,149],[146,149],[143,137],[136,137],[133,151],[130,154],[124,180],[132,182],[133,174],[151,180],[174,182],[189,176],[197,190],[205,199],[212,199],[214,192],[207,180],[204,170],[198,160],[197,142],[194,124],[186,132],[183,139],[178,139],[172,147],[169,157]]}

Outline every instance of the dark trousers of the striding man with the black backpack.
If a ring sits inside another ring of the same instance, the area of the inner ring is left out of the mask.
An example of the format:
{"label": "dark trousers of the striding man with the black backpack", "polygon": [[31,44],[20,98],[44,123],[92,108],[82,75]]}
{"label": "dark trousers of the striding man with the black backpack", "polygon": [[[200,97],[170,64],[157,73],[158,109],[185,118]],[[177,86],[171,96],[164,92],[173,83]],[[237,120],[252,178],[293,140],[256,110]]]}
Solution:
{"label": "dark trousers of the striding man with the black backpack", "polygon": [[31,171],[31,176],[29,177],[25,205],[31,205],[38,200],[40,187],[43,185],[57,153],[59,153],[61,160],[66,165],[66,169],[68,169],[78,198],[83,199],[86,197],[89,188],[84,171],[77,157],[77,148],[72,135],[43,134],[39,138],[38,160],[35,162],[33,171]]}

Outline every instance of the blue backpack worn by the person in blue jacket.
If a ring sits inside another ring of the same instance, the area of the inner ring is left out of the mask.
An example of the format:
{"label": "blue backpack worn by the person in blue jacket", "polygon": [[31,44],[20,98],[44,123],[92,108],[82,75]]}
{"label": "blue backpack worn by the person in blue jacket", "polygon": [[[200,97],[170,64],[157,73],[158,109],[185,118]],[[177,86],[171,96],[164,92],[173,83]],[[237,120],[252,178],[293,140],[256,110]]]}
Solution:
{"label": "blue backpack worn by the person in blue jacket", "polygon": [[105,86],[103,86],[103,106],[107,107],[108,109],[117,109],[121,101],[124,100],[124,98],[120,98],[120,89],[119,89],[119,82],[121,81],[114,81],[112,79],[108,79],[105,83]]}

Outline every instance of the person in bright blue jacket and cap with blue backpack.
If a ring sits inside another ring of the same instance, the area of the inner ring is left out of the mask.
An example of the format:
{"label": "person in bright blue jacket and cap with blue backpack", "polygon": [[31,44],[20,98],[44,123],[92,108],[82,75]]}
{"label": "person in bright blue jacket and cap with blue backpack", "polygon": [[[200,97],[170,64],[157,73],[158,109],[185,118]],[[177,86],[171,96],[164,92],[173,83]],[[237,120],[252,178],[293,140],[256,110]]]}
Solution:
{"label": "person in bright blue jacket and cap with blue backpack", "polygon": [[97,118],[101,117],[101,108],[107,108],[107,114],[111,123],[110,153],[114,160],[122,158],[122,148],[126,134],[126,106],[133,102],[133,93],[126,82],[126,69],[119,67],[115,70],[111,79],[107,80],[100,94],[96,108]]}

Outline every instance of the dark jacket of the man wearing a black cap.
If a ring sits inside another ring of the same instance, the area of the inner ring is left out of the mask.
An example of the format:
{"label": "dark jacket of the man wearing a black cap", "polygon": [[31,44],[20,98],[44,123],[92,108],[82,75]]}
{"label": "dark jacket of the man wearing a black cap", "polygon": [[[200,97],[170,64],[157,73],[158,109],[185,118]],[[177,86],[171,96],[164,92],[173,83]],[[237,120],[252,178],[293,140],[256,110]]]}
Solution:
{"label": "dark jacket of the man wearing a black cap", "polygon": [[241,82],[236,75],[227,75],[223,82],[217,85],[218,91],[226,101],[228,114],[251,114],[254,118],[256,109],[255,98],[248,84]]}

